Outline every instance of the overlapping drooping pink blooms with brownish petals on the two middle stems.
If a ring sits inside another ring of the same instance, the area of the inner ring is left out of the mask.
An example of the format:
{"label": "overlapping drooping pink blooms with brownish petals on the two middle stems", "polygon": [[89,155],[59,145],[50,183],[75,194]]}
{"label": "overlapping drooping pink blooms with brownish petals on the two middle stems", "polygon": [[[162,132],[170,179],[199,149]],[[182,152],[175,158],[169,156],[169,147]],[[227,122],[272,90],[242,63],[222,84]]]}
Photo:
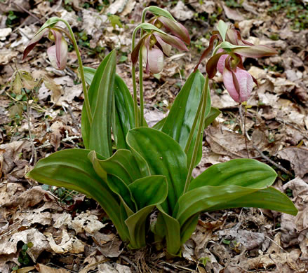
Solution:
{"label": "overlapping drooping pink blooms with brownish petals on the two middle stems", "polygon": [[158,29],[165,27],[174,35],[166,34],[163,31],[146,33],[133,49],[131,59],[133,65],[135,65],[139,51],[142,50],[142,59],[145,63],[146,72],[159,73],[163,69],[163,56],[168,57],[173,47],[188,51],[185,43],[189,43],[190,38],[187,29],[176,21],[159,16],[149,22]]}

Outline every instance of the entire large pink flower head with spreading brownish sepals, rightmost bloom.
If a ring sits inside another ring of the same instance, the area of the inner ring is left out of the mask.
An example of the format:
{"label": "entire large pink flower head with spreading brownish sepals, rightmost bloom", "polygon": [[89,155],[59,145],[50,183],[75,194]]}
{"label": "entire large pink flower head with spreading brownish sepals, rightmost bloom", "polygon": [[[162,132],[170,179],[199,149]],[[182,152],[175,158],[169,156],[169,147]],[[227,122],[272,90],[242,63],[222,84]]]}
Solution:
{"label": "entire large pink flower head with spreading brownish sepals, rightmost bloom", "polygon": [[236,102],[245,102],[253,90],[253,82],[257,84],[257,80],[243,67],[242,57],[259,58],[272,56],[277,52],[267,45],[253,45],[253,43],[243,40],[239,31],[226,27],[222,21],[218,25],[218,31],[213,31],[210,45],[203,52],[195,71],[213,49],[214,41],[218,41],[219,49],[206,64],[208,78],[213,78],[218,69],[222,73],[225,88],[232,99]]}

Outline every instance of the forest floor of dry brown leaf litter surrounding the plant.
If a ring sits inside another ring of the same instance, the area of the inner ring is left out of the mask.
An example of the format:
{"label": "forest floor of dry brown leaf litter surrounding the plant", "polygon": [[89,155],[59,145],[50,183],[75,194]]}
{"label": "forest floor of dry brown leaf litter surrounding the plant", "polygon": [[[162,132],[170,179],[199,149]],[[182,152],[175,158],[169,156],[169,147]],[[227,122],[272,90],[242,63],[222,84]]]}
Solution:
{"label": "forest floor of dry brown leaf litter surrounding the plant", "polygon": [[[131,34],[150,5],[167,8],[192,43],[189,52],[166,59],[159,75],[145,74],[149,125],[168,114],[218,20],[279,52],[245,60],[259,83],[246,107],[229,97],[220,74],[211,81],[212,105],[222,113],[204,134],[194,174],[234,158],[265,162],[276,170],[274,187],[293,200],[297,216],[249,208],[201,214],[182,258],[168,258],[151,245],[126,248],[105,212],[86,196],[25,179],[46,155],[83,147],[76,53],[70,48],[67,69],[57,71],[46,54],[52,43],[43,38],[22,61],[29,39],[48,18],[65,18],[83,65],[98,67],[116,48],[117,73],[133,90]],[[0,0],[0,10],[0,272],[308,272],[306,0]],[[22,93],[22,87],[32,91]]]}

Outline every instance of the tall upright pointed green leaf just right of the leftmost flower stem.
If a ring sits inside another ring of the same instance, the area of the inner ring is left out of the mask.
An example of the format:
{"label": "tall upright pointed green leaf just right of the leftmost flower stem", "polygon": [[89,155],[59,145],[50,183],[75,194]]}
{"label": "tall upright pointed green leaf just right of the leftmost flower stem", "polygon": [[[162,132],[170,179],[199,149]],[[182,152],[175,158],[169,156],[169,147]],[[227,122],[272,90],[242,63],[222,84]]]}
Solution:
{"label": "tall upright pointed green leaf just right of the leftmost flower stem", "polygon": [[[108,56],[109,58],[101,74],[102,77],[100,78],[98,89],[94,90],[94,94],[92,95],[90,95],[89,90],[91,111],[93,111],[93,104],[95,104],[95,107],[88,144],[91,150],[100,153],[100,155],[106,158],[112,155],[112,99],[114,96],[114,77],[116,74],[116,51],[113,50]],[[96,73],[99,71],[100,70],[97,70]],[[92,84],[95,83],[94,79],[95,76]],[[95,85],[95,87],[97,87],[97,85]],[[90,99],[91,96],[95,96],[97,101],[94,102],[93,99]]]}

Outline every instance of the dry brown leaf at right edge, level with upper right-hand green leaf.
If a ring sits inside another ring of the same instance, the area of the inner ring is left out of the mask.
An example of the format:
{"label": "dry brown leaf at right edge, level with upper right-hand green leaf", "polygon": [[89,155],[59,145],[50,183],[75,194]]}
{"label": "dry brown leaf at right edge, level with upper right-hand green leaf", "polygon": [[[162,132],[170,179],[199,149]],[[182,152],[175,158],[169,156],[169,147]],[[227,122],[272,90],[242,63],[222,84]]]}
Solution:
{"label": "dry brown leaf at right edge, level with upper right-hand green leaf", "polygon": [[306,147],[285,148],[277,153],[283,160],[290,161],[291,167],[295,172],[295,176],[303,178],[308,173],[308,149]]}

